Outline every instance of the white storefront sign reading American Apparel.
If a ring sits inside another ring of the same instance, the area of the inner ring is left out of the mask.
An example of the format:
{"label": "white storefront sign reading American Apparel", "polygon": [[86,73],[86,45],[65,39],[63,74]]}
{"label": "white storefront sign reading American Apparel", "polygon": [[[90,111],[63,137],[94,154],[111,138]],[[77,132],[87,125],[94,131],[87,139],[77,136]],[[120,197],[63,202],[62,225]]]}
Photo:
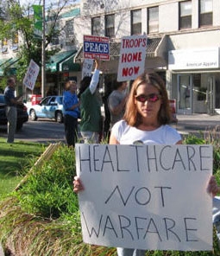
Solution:
{"label": "white storefront sign reading American Apparel", "polygon": [[219,52],[219,48],[169,51],[168,68],[170,70],[219,68]]}

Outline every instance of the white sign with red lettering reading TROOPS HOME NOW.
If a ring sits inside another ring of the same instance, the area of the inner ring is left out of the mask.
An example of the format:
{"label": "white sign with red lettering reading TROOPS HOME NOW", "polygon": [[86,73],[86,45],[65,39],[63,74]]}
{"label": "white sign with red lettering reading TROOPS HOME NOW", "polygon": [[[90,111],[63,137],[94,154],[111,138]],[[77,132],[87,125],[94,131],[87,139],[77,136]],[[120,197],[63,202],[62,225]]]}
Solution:
{"label": "white sign with red lettering reading TROOPS HOME NOW", "polygon": [[147,35],[123,37],[117,72],[118,81],[135,80],[144,72],[147,42]]}

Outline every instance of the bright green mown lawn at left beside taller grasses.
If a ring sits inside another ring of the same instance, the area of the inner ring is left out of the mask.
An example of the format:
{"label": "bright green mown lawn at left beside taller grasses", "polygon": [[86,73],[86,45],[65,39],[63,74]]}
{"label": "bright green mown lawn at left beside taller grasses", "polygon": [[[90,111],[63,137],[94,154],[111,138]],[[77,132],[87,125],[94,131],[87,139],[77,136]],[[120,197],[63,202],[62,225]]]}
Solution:
{"label": "bright green mown lawn at left beside taller grasses", "polygon": [[16,141],[7,144],[0,138],[0,200],[21,181],[25,170],[31,168],[45,150],[45,145]]}

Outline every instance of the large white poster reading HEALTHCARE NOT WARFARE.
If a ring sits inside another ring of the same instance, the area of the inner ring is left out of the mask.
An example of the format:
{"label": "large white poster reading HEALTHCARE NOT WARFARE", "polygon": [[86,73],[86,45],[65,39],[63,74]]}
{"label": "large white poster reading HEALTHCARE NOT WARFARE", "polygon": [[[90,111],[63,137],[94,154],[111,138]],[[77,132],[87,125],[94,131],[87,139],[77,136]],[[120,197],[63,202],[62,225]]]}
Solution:
{"label": "large white poster reading HEALTHCARE NOT WARFARE", "polygon": [[211,145],[76,144],[83,240],[212,250]]}

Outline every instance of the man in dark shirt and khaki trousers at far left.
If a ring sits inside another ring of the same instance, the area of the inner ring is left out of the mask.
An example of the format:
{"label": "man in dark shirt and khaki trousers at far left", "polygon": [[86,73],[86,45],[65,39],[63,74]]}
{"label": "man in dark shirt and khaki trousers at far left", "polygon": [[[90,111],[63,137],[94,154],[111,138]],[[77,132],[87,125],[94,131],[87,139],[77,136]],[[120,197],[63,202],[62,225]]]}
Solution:
{"label": "man in dark shirt and khaki trousers at far left", "polygon": [[4,99],[6,104],[6,117],[8,119],[8,138],[7,143],[14,143],[16,133],[17,111],[16,105],[22,104],[22,96],[15,97],[16,80],[10,77],[4,89]]}

